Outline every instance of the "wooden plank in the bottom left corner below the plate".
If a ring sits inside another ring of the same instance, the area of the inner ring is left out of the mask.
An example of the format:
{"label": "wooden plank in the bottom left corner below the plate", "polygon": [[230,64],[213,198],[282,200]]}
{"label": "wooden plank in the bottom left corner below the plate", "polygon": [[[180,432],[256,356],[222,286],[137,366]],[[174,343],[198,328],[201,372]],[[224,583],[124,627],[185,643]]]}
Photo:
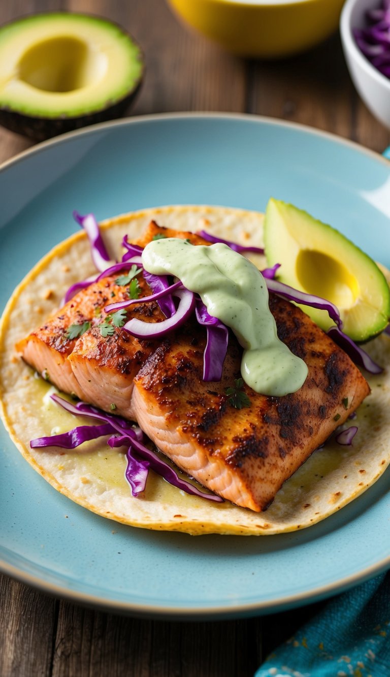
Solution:
{"label": "wooden plank in the bottom left corner below the plate", "polygon": [[48,676],[58,602],[0,575],[0,675]]}

